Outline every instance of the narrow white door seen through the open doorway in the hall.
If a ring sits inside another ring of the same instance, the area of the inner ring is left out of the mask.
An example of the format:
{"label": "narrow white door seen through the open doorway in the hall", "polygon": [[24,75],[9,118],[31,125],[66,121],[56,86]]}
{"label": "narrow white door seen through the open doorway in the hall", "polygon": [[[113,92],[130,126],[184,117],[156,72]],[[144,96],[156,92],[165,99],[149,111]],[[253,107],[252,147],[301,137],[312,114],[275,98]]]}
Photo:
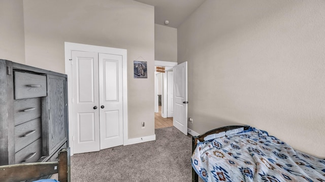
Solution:
{"label": "narrow white door seen through the open doorway in the hall", "polygon": [[167,117],[174,117],[174,90],[173,90],[173,83],[174,83],[174,72],[173,70],[167,71]]}

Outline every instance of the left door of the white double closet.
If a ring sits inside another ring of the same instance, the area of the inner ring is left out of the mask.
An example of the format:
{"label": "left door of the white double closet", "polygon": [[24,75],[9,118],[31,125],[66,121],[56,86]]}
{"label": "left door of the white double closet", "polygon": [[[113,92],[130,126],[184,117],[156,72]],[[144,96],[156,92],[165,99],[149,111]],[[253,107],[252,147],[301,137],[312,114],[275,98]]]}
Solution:
{"label": "left door of the white double closet", "polygon": [[100,150],[98,53],[72,52],[74,153]]}

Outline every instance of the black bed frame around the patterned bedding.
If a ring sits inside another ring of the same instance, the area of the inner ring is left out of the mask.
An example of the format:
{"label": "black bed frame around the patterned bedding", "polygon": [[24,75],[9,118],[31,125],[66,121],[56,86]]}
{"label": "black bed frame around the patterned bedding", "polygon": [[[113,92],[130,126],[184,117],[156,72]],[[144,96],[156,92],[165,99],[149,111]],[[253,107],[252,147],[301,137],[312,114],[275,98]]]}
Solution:
{"label": "black bed frame around the patterned bedding", "polygon": [[[209,134],[219,133],[222,131],[228,131],[236,128],[244,127],[244,130],[249,128],[249,125],[231,125],[231,126],[223,126],[216,129],[212,129],[204,134],[199,136],[192,136],[192,153],[194,152],[195,148],[197,147],[198,141],[203,142],[204,138]],[[199,182],[199,175],[196,171],[192,168],[192,182]]]}

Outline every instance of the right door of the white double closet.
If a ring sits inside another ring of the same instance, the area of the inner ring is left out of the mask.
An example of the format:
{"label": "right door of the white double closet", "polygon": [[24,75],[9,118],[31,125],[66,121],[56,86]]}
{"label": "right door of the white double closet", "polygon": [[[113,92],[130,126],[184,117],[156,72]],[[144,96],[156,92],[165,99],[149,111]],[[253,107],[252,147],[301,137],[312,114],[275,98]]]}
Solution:
{"label": "right door of the white double closet", "polygon": [[122,56],[99,54],[101,149],[123,145]]}

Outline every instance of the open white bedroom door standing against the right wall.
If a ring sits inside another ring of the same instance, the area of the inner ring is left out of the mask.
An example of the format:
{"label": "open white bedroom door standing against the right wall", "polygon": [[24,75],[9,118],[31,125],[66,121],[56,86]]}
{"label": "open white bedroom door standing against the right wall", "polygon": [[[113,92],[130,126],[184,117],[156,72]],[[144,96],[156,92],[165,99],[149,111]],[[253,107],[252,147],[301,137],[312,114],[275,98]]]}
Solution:
{"label": "open white bedroom door standing against the right wall", "polygon": [[174,71],[173,125],[187,135],[187,62],[176,65]]}

